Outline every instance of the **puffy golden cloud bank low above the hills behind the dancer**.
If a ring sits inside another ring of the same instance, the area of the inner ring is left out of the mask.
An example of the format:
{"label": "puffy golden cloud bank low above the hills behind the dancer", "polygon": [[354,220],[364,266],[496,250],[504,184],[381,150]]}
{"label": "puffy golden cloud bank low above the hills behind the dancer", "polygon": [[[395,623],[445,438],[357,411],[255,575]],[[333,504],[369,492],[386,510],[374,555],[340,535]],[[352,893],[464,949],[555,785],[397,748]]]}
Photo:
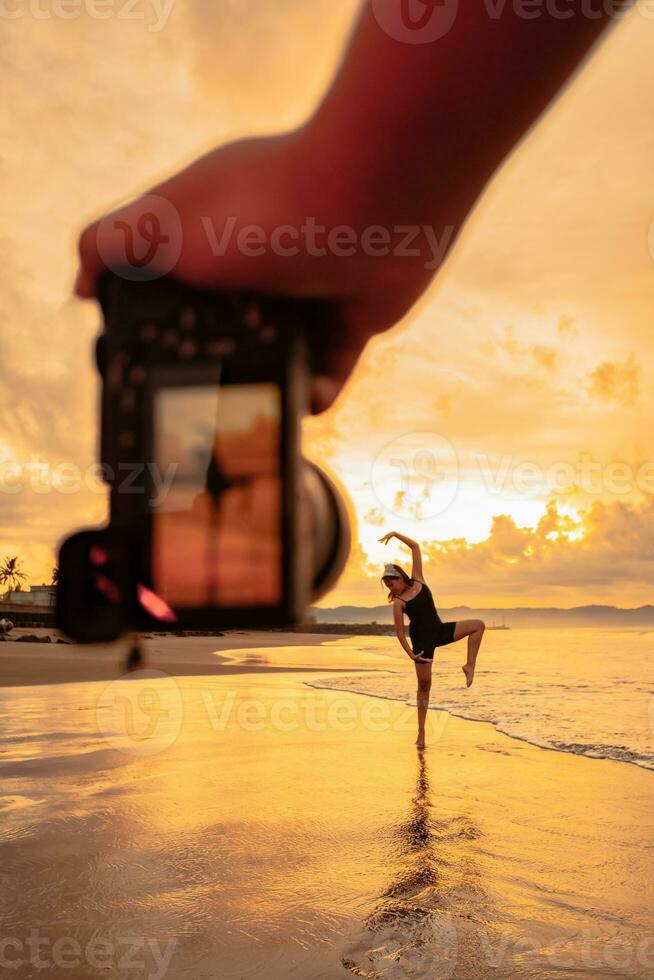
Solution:
{"label": "puffy golden cloud bank low above the hills behind the dancer", "polygon": [[[565,513],[552,496],[534,527],[497,514],[482,541],[420,543],[427,581],[444,606],[654,601],[654,496],[633,504],[593,501],[576,513]],[[344,583],[364,605],[377,601],[370,579],[366,592],[369,568],[357,547]],[[342,584],[323,605],[343,601]]]}

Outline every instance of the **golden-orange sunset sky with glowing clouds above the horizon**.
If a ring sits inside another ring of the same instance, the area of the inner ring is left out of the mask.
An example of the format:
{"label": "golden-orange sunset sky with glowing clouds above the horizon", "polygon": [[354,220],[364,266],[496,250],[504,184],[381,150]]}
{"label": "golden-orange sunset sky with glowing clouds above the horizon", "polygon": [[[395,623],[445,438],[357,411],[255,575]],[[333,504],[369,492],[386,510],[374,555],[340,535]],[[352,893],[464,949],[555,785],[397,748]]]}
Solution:
{"label": "golden-orange sunset sky with glowing clouds above the horizon", "polygon": [[[143,0],[138,19],[123,6],[65,20],[26,3],[0,35],[0,558],[19,555],[32,584],[50,581],[62,536],[106,516],[99,317],[72,296],[79,230],[221,142],[299,124],[358,2],[184,0],[165,22]],[[305,420],[306,455],[358,521],[319,605],[384,601],[383,562],[411,570],[402,545],[378,543],[390,530],[420,541],[442,606],[654,601],[648,6],[497,174],[332,409]],[[62,482],[62,464],[81,483]]]}

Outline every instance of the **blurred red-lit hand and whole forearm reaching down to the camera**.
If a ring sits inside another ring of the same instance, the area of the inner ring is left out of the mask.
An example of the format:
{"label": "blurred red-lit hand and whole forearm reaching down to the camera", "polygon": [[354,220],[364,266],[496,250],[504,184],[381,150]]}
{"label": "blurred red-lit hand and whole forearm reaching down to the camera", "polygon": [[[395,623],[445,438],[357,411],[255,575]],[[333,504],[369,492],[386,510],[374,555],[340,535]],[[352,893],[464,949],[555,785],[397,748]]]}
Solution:
{"label": "blurred red-lit hand and whole forearm reaching down to the camera", "polygon": [[[214,150],[152,188],[154,201],[138,198],[89,225],[77,295],[95,296],[103,268],[124,264],[127,238],[139,233],[135,257],[168,238],[168,258],[177,245],[180,254],[166,272],[192,285],[334,300],[311,387],[311,411],[329,408],[368,340],[423,294],[509,152],[622,19],[609,9],[572,20],[513,10],[491,23],[483,5],[469,4],[438,44],[414,45],[389,30],[396,6],[362,5],[340,70],[304,126]],[[334,233],[329,248],[307,241],[309,222]],[[291,248],[289,229],[303,233]],[[239,233],[249,239],[240,247]]]}

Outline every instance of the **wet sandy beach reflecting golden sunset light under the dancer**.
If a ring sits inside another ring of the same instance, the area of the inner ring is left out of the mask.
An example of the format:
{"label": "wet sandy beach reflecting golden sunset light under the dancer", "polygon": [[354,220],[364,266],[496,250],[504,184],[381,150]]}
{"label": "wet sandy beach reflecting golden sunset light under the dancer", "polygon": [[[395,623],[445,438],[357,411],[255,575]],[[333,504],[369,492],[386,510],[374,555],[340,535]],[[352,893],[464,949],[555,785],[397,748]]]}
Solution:
{"label": "wet sandy beach reflecting golden sunset light under the dancer", "polygon": [[651,772],[305,683],[390,639],[146,646],[0,645],[11,976],[654,975]]}

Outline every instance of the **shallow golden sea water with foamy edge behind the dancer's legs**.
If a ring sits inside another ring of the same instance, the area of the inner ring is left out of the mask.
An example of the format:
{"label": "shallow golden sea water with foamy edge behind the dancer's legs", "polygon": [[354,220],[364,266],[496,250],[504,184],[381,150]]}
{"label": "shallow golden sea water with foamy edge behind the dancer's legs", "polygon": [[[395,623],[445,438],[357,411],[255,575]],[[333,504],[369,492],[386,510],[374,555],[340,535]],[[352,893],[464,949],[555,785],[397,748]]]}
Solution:
{"label": "shallow golden sea water with foamy edge behind the dancer's legs", "polygon": [[[654,630],[486,630],[465,685],[467,638],[439,647],[430,707],[534,745],[654,769]],[[310,681],[415,704],[413,662],[381,638],[389,670]]]}

